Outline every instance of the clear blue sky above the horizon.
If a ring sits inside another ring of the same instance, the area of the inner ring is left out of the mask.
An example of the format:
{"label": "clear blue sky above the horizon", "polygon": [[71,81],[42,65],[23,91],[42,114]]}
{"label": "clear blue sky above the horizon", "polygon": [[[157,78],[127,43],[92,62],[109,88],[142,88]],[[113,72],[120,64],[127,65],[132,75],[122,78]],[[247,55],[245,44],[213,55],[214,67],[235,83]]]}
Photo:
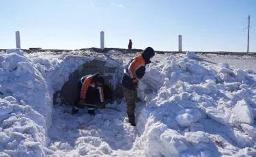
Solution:
{"label": "clear blue sky above the horizon", "polygon": [[177,51],[246,51],[246,18],[251,14],[250,51],[256,52],[255,0],[0,0],[0,48],[76,49],[152,46]]}

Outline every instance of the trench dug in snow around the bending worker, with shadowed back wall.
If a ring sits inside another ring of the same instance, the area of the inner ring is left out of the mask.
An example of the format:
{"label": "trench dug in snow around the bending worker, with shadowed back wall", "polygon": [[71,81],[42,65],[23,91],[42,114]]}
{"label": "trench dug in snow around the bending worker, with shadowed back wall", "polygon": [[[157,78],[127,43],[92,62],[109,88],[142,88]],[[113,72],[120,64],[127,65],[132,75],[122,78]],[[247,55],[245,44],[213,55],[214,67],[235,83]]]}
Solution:
{"label": "trench dug in snow around the bending worker, with shadowed back wall", "polygon": [[[60,91],[55,92],[52,122],[48,130],[51,139],[49,147],[59,155],[103,155],[113,151],[129,150],[137,136],[136,128],[130,126],[126,114],[126,103],[120,80],[123,65],[94,59],[83,64],[72,72],[69,80]],[[113,89],[115,100],[121,104],[107,104],[116,107],[121,112],[110,109],[96,109],[96,115],[87,114],[87,108],[80,109],[76,115],[71,115],[72,104],[76,98],[76,83],[82,76],[100,72],[104,75],[106,85]],[[146,78],[145,78],[146,79]],[[150,81],[150,80],[149,80]],[[61,104],[61,105],[59,105]],[[69,105],[71,104],[71,105]],[[136,115],[143,108],[143,102],[137,102]]]}

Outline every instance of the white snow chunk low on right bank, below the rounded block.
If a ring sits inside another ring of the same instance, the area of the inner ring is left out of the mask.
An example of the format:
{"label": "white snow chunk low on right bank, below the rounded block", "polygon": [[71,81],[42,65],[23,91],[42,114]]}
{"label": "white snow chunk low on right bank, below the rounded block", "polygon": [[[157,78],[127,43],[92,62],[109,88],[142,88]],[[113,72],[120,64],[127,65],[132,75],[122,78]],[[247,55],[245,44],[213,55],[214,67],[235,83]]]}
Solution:
{"label": "white snow chunk low on right bank, below the rounded block", "polygon": [[205,132],[202,131],[185,132],[185,138],[193,145],[198,145],[200,142],[209,143],[208,136],[206,136]]}

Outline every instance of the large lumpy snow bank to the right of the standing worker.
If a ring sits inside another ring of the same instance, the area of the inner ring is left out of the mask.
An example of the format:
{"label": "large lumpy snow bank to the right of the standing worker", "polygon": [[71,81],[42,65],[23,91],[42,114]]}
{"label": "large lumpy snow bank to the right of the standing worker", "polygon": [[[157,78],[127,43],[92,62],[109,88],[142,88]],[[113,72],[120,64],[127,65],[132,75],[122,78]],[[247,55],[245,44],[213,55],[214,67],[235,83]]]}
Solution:
{"label": "large lumpy snow bank to the right of the standing worker", "polygon": [[255,80],[247,70],[168,57],[141,81],[147,107],[135,143],[147,156],[256,154]]}

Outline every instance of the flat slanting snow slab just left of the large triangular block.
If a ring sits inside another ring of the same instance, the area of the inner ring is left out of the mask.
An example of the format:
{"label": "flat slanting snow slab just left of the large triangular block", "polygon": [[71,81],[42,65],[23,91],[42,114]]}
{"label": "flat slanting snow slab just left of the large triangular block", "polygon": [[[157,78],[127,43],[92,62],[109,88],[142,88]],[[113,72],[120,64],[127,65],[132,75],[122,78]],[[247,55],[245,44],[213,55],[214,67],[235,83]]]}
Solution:
{"label": "flat slanting snow slab just left of the large triangular block", "polygon": [[221,113],[221,111],[212,106],[206,109],[206,115],[220,124],[226,125],[228,123],[228,120],[225,118],[225,113]]}

